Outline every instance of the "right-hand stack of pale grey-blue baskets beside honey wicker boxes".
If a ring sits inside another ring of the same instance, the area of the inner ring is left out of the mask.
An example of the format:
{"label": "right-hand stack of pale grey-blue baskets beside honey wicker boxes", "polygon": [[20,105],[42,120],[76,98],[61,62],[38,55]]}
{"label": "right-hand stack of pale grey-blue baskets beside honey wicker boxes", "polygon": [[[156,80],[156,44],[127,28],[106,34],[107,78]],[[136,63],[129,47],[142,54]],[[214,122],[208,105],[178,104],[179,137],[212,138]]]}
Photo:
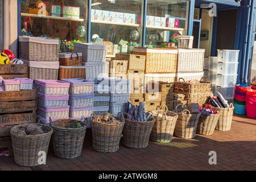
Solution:
{"label": "right-hand stack of pale grey-blue baskets beside honey wicker boxes", "polygon": [[117,116],[124,113],[130,98],[130,80],[121,78],[103,78],[101,84],[110,86],[109,113]]}

